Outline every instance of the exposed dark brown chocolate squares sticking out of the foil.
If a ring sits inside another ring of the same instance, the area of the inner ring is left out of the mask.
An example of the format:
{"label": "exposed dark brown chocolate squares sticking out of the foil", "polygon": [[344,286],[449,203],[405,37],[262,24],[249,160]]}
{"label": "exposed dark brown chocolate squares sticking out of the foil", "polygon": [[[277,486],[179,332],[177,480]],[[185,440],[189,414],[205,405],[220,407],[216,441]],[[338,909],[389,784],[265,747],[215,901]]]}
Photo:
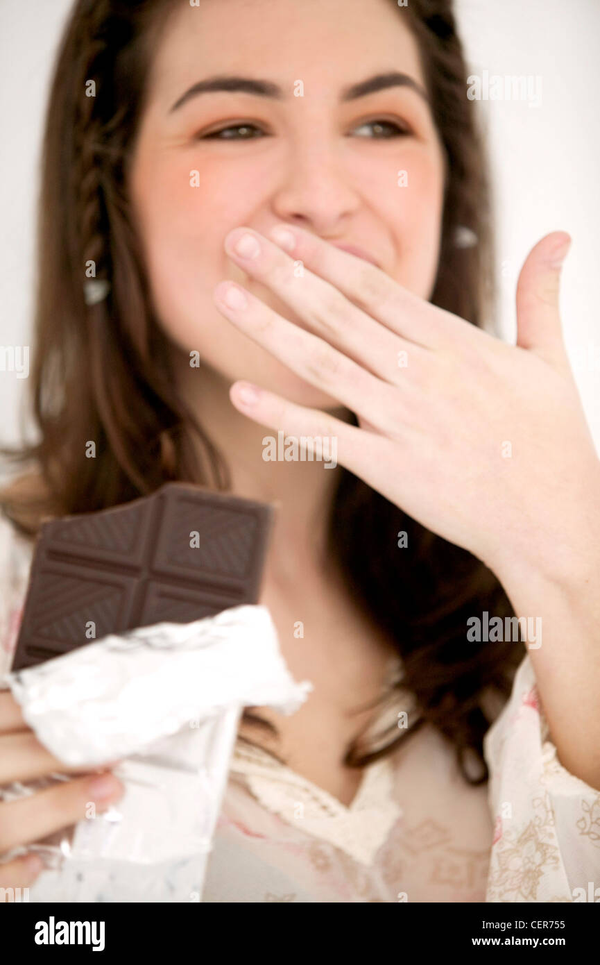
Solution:
{"label": "exposed dark brown chocolate squares sticking out of the foil", "polygon": [[13,670],[163,621],[188,623],[259,598],[270,506],[188,483],[45,523]]}

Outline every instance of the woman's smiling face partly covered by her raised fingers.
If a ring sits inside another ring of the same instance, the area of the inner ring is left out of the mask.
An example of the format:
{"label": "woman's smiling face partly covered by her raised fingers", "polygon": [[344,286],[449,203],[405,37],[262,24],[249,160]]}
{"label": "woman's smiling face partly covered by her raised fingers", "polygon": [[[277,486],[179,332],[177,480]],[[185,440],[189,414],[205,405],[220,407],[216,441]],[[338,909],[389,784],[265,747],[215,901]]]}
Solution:
{"label": "woman's smiling face partly covered by her raised fingers", "polygon": [[[359,246],[400,285],[431,294],[444,161],[406,17],[390,0],[202,0],[167,21],[130,196],[165,332],[230,381],[333,404],[214,305],[215,286],[232,279],[301,322],[229,259],[233,228],[300,225]],[[351,90],[393,71],[410,82]],[[190,92],[215,77],[244,85]]]}

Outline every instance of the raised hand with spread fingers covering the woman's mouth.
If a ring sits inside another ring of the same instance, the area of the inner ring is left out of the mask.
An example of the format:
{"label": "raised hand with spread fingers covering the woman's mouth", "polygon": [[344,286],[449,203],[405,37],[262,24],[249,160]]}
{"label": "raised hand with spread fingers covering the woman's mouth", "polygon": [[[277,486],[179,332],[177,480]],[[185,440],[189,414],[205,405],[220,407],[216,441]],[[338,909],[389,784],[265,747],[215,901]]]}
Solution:
{"label": "raised hand with spread fingers covering the woman's mouth", "polygon": [[[257,257],[235,253],[242,234],[259,242]],[[571,539],[600,517],[600,462],[560,328],[569,236],[548,234],[532,249],[517,287],[517,345],[506,345],[314,234],[287,234],[294,247],[285,251],[235,229],[226,250],[310,330],[232,282],[217,286],[215,303],[355,412],[359,427],[242,382],[232,385],[235,407],[287,435],[337,436],[342,465],[497,572],[514,554],[575,565]],[[231,289],[247,307],[224,303]]]}

